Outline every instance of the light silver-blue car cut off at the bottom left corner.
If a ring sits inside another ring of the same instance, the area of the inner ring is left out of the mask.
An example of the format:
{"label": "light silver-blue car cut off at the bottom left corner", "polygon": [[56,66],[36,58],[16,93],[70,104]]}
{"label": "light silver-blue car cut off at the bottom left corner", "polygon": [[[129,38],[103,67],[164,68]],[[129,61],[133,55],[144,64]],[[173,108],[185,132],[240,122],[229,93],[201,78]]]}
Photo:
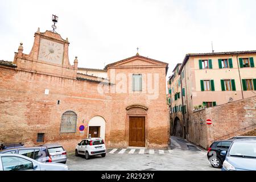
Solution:
{"label": "light silver-blue car cut off at the bottom left corner", "polygon": [[0,154],[0,171],[67,171],[66,164],[41,163],[19,154]]}

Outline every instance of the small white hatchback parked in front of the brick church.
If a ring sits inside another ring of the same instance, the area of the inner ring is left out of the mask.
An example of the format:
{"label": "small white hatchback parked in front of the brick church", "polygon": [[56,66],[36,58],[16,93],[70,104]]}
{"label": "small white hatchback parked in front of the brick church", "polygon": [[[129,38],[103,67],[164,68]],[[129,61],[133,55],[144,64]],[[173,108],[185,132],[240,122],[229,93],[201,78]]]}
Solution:
{"label": "small white hatchback parked in front of the brick church", "polygon": [[90,159],[92,155],[106,156],[106,146],[102,138],[86,138],[76,146],[76,156],[85,155],[85,159]]}

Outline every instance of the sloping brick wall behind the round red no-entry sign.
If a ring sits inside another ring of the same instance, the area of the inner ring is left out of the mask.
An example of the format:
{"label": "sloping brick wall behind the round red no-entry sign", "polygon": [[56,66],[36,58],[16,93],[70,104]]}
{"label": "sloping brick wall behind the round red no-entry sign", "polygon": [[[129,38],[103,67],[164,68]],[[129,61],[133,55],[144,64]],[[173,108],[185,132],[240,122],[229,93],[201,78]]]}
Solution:
{"label": "sloping brick wall behind the round red no-entry sign", "polygon": [[[188,123],[188,140],[207,148],[214,140],[232,138],[255,129],[255,118],[256,96],[197,111]],[[212,119],[212,125],[206,124],[207,119]]]}

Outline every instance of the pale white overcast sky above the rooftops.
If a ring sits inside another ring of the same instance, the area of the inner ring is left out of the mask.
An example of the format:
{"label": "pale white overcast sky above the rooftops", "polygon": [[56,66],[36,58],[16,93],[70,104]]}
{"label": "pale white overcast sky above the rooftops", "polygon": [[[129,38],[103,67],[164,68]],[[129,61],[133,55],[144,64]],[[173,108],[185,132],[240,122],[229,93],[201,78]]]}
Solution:
{"label": "pale white overcast sky above the rooftops", "polygon": [[29,53],[34,32],[51,30],[69,42],[69,60],[104,68],[142,56],[169,63],[171,74],[186,53],[256,49],[255,0],[0,0],[0,60],[13,61],[19,43]]}

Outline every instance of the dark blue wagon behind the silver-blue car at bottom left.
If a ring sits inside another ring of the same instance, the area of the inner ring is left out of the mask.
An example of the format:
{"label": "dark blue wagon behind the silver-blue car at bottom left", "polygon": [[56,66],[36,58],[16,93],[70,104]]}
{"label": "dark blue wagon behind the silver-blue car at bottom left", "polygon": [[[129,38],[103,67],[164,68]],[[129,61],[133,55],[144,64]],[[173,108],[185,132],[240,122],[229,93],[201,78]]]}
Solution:
{"label": "dark blue wagon behind the silver-blue car at bottom left", "polygon": [[10,148],[0,151],[0,154],[20,154],[42,163],[52,162],[47,147]]}

